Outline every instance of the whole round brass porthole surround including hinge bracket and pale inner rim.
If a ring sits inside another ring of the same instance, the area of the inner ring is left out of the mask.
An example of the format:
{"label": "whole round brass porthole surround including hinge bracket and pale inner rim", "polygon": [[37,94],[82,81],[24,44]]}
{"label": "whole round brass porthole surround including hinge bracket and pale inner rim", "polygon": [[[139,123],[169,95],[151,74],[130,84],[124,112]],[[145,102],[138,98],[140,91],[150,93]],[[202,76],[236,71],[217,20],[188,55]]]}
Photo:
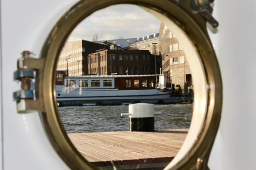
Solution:
{"label": "whole round brass porthole surround including hinge bracket and pale inner rim", "polygon": [[[210,150],[220,121],[222,83],[218,62],[207,35],[206,22],[200,7],[205,2],[176,0],[82,0],[72,6],[56,23],[49,34],[40,59],[24,59],[22,65],[36,72],[32,99],[20,100],[18,110],[40,110],[42,121],[52,146],[58,155],[73,170],[95,170],[76,150],[63,129],[58,115],[55,94],[55,73],[58,56],[72,30],[86,17],[104,7],[127,3],[135,4],[155,15],[166,25],[175,27],[174,33],[183,48],[191,53],[188,59],[195,81],[193,118],[189,133],[175,159],[165,170],[203,170],[207,166]],[[194,6],[199,4],[199,10]],[[208,6],[209,7],[209,6]],[[206,8],[205,8],[206,10]],[[209,20],[212,22],[212,20]],[[214,22],[211,23],[214,26]],[[41,62],[42,65],[38,65]],[[31,71],[31,75],[33,71]],[[33,76],[32,76],[33,77]],[[59,94],[57,94],[59,95]]]}

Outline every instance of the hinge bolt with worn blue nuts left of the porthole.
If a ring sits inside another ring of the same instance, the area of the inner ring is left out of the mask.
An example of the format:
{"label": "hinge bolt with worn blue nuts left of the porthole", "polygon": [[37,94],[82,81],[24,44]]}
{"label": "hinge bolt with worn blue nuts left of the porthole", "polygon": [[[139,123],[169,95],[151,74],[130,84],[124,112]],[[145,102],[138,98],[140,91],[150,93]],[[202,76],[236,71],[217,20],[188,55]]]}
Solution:
{"label": "hinge bolt with worn blue nuts left of the porthole", "polygon": [[22,57],[17,61],[17,70],[14,72],[14,79],[21,82],[21,89],[13,93],[13,99],[17,102],[20,100],[35,99],[35,70],[28,68],[24,63],[32,53],[23,51]]}

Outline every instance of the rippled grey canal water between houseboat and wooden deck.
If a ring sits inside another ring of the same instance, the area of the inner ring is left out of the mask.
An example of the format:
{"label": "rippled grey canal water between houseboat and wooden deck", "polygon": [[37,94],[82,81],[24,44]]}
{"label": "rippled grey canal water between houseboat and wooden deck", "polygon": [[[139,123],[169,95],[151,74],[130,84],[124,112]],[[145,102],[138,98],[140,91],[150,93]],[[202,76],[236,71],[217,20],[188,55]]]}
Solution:
{"label": "rippled grey canal water between houseboat and wooden deck", "polygon": [[[85,105],[59,107],[59,115],[67,134],[129,131],[128,105]],[[154,130],[189,128],[193,104],[156,104]]]}

